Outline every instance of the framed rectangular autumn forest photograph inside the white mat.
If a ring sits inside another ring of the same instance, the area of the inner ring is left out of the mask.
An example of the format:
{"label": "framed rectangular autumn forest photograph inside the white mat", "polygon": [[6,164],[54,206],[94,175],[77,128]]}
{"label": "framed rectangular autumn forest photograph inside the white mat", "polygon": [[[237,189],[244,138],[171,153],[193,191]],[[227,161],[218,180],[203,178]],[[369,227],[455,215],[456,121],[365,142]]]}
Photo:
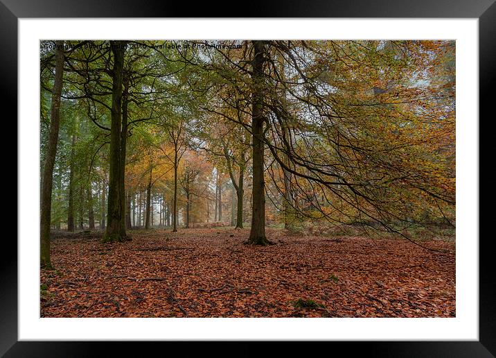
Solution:
{"label": "framed rectangular autumn forest photograph inside the white mat", "polygon": [[40,41],[40,316],[456,317],[455,49]]}

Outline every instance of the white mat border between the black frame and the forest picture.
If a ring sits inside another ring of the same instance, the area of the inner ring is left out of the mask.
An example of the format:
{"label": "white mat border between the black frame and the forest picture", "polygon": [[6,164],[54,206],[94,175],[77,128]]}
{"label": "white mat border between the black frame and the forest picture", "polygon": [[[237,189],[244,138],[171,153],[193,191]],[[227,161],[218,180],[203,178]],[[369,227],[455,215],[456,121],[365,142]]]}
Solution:
{"label": "white mat border between the black frame and the forest picture", "polygon": [[[477,341],[478,26],[478,19],[19,19],[19,340]],[[457,40],[457,317],[39,318],[39,40],[103,38]]]}

